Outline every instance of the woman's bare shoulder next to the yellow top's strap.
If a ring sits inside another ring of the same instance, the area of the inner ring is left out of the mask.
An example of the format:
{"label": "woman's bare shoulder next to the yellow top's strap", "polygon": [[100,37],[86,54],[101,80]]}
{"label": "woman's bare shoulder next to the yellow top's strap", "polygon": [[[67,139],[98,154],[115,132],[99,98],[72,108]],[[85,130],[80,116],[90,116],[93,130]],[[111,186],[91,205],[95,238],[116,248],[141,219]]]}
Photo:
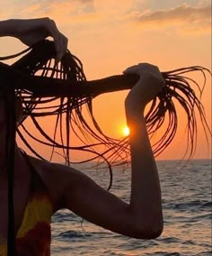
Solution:
{"label": "woman's bare shoulder next to the yellow top's strap", "polygon": [[[84,174],[63,164],[30,158],[45,187],[47,187],[56,210],[61,208],[66,187],[74,187],[77,180]],[[58,202],[60,202],[59,205]]]}

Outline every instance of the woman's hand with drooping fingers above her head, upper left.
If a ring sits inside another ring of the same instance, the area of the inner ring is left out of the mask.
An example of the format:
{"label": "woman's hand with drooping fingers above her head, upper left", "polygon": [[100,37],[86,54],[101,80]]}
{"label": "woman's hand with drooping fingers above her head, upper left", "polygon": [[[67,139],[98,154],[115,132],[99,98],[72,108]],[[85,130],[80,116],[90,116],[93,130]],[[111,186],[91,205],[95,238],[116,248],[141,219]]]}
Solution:
{"label": "woman's hand with drooping fingers above her head, upper left", "polygon": [[57,25],[49,18],[31,19],[31,20],[13,20],[14,37],[22,43],[31,46],[47,37],[52,37],[57,51],[57,61],[59,61],[67,49],[67,38],[58,31]]}

